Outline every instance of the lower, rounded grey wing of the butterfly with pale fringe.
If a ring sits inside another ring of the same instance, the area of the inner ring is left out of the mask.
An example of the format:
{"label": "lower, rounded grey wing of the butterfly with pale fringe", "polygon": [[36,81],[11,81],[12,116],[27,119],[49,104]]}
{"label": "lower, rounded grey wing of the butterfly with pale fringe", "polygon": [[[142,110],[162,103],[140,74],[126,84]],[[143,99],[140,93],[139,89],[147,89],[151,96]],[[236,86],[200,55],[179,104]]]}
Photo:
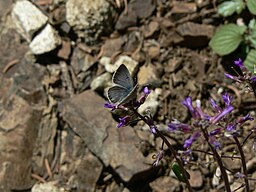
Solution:
{"label": "lower, rounded grey wing of the butterfly with pale fringe", "polygon": [[112,103],[120,103],[129,95],[129,90],[121,86],[113,86],[108,89],[108,99]]}

